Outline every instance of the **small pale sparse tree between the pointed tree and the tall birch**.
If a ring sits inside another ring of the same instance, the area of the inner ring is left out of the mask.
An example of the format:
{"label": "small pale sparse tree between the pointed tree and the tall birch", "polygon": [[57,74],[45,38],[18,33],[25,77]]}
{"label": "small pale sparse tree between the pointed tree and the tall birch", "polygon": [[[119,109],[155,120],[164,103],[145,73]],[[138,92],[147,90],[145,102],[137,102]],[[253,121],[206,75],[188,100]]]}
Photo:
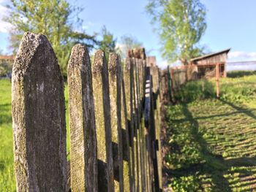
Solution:
{"label": "small pale sparse tree between the pointed tree and the tall birch", "polygon": [[124,60],[126,58],[128,50],[135,48],[143,47],[142,42],[139,42],[138,39],[132,35],[124,35],[121,37],[121,41],[117,46],[117,53],[121,55],[121,58]]}

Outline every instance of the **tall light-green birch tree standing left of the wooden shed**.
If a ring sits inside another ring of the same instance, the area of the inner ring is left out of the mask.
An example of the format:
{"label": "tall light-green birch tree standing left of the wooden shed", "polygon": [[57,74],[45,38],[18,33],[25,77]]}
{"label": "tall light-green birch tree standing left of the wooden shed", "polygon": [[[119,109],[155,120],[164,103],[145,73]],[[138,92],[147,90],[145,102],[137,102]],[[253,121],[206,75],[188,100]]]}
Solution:
{"label": "tall light-green birch tree standing left of the wooden shed", "polygon": [[188,64],[202,53],[199,42],[206,31],[206,7],[200,0],[148,0],[147,12],[157,25],[162,55]]}

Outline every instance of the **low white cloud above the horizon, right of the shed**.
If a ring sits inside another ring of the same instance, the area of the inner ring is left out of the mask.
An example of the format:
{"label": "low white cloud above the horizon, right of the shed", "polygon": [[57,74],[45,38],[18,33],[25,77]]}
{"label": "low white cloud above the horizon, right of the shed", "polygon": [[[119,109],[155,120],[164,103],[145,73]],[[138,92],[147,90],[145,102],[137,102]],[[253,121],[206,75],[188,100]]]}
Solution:
{"label": "low white cloud above the horizon, right of the shed", "polygon": [[256,61],[256,52],[231,51],[227,58],[228,61]]}

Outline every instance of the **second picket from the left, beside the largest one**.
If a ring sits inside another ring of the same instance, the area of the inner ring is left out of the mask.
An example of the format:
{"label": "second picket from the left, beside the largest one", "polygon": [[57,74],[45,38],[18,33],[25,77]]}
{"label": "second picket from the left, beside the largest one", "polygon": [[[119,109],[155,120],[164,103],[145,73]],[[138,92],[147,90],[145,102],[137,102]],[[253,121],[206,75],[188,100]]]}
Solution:
{"label": "second picket from the left, beside the largest one", "polygon": [[67,68],[72,191],[98,191],[97,140],[88,50],[75,45]]}

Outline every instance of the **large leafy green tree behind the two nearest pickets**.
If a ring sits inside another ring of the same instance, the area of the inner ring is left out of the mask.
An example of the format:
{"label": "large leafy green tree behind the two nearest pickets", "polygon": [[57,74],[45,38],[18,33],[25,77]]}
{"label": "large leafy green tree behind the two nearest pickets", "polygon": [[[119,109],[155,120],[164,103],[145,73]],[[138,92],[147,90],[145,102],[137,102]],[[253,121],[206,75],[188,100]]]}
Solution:
{"label": "large leafy green tree behind the two nearest pickets", "polygon": [[81,9],[71,7],[66,0],[12,0],[7,7],[10,15],[5,20],[13,26],[10,33],[13,53],[17,52],[24,32],[44,34],[53,46],[64,75],[67,75],[67,62],[73,45],[82,43],[91,48],[97,44],[95,35],[74,30],[75,25],[80,26],[83,22],[75,16]]}

